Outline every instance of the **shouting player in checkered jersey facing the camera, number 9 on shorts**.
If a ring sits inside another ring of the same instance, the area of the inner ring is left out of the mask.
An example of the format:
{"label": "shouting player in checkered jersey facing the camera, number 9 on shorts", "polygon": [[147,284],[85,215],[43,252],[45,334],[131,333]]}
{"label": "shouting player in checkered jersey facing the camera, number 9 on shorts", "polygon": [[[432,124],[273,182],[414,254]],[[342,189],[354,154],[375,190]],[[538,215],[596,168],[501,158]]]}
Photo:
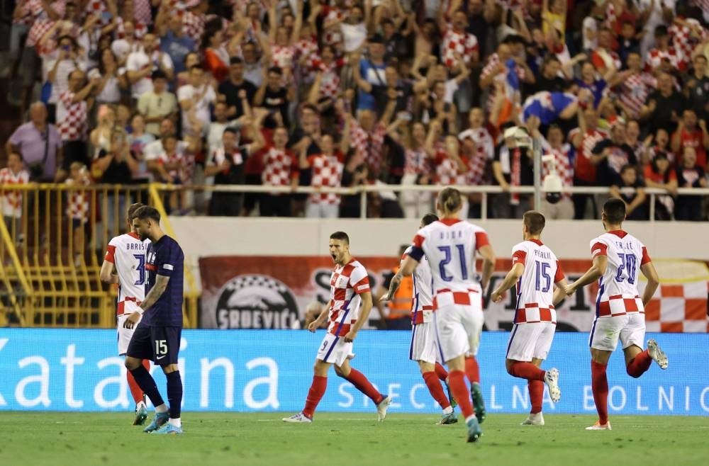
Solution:
{"label": "shouting player in checkered jersey facing the camera, number 9 on shorts", "polygon": [[[362,263],[350,254],[350,237],[345,232],[330,235],[330,256],[335,262],[335,269],[330,278],[330,302],[323,307],[318,318],[308,325],[308,330],[315,332],[325,319],[328,319],[330,324],[318,349],[313,368],[313,383],[308,391],[306,406],[300,413],[283,418],[283,421],[313,422],[313,414],[328,387],[328,371],[331,365],[335,365],[337,375],[372,399],[376,404],[379,421],[384,421],[391,397],[379,393],[364,374],[350,367],[350,359],[354,358],[352,342],[367,322],[372,310],[369,275]],[[362,305],[361,309],[359,305]]]}

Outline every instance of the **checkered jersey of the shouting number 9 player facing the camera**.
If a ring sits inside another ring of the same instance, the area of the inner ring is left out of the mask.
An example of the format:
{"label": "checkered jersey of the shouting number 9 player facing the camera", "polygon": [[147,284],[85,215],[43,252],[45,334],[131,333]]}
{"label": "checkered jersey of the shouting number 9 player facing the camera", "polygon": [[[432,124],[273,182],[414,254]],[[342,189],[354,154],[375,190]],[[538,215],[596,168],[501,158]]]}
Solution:
{"label": "checkered jersey of the shouting number 9 player facing the camera", "polygon": [[337,265],[330,275],[330,313],[328,332],[345,336],[359,316],[362,293],[371,292],[367,269],[352,258],[344,266]]}

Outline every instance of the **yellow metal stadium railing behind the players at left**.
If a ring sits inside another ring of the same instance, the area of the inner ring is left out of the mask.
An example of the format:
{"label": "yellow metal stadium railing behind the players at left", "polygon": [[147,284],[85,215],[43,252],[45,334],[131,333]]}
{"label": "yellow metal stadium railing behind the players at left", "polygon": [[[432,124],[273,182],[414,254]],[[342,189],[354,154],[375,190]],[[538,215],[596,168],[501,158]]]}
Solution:
{"label": "yellow metal stadium railing behind the players at left", "polygon": [[[150,186],[0,186],[0,326],[111,328],[116,287],[99,279],[106,245],[125,232],[133,202],[155,206]],[[179,241],[179,239],[178,239]],[[197,325],[199,292],[185,268],[186,328]]]}

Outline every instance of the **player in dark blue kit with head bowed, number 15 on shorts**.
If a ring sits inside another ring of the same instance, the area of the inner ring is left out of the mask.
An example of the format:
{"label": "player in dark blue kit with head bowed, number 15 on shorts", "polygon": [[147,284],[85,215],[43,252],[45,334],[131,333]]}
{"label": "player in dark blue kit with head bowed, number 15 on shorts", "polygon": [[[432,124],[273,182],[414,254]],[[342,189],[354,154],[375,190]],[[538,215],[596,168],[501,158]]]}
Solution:
{"label": "player in dark blue kit with head bowed, number 15 on shorts", "polygon": [[[177,241],[160,229],[160,213],[155,208],[138,209],[133,228],[140,239],[150,239],[150,246],[145,254],[145,301],[123,324],[131,329],[143,316],[130,339],[125,367],[155,406],[155,418],[145,432],[179,434],[182,433],[182,380],[177,353],[182,333],[184,254]],[[140,363],[143,359],[151,359],[155,365],[160,365],[167,377],[169,414],[155,380]]]}

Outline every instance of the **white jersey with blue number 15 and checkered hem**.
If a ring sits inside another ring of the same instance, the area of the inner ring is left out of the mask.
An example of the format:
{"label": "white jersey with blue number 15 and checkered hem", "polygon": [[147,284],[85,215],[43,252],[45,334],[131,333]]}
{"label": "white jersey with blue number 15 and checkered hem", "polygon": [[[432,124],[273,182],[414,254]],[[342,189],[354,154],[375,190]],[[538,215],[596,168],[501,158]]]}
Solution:
{"label": "white jersey with blue number 15 and checkered hem", "polygon": [[512,248],[512,264],[521,263],[525,271],[517,282],[515,324],[557,323],[554,309],[554,283],[564,280],[562,266],[551,249],[538,239],[529,239]]}

